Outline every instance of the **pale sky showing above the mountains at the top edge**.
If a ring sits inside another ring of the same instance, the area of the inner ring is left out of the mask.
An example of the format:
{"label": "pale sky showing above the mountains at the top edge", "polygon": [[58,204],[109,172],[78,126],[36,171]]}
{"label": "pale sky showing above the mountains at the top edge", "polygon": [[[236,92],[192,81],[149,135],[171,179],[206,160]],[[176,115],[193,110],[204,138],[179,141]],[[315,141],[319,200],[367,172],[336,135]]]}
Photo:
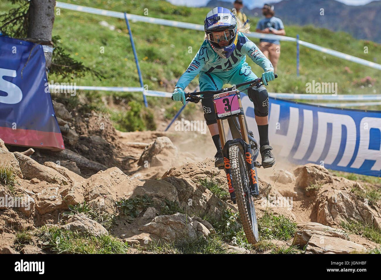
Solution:
{"label": "pale sky showing above the mountains at the top edge", "polygon": [[[205,6],[209,0],[167,0],[168,2],[171,2],[175,5],[184,5],[184,6]],[[226,2],[234,2],[234,0],[223,0]],[[243,4],[247,6],[248,8],[256,8],[263,6],[264,3],[275,3],[280,2],[281,0],[243,0]],[[313,0],[312,0],[313,1]],[[373,0],[337,0],[338,2],[347,4],[347,5],[365,5],[367,3],[372,2]]]}

